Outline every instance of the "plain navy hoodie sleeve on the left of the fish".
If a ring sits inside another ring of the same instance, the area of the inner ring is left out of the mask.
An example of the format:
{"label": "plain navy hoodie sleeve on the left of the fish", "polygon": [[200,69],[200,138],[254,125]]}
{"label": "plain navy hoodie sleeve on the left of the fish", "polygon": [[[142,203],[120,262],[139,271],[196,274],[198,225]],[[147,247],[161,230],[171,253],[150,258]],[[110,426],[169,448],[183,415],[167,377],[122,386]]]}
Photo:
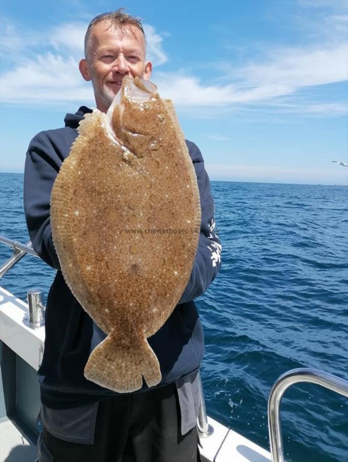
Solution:
{"label": "plain navy hoodie sleeve on the left of the fish", "polygon": [[47,132],[31,141],[24,171],[24,211],[29,237],[38,256],[55,269],[60,269],[50,224],[50,197],[62,157]]}

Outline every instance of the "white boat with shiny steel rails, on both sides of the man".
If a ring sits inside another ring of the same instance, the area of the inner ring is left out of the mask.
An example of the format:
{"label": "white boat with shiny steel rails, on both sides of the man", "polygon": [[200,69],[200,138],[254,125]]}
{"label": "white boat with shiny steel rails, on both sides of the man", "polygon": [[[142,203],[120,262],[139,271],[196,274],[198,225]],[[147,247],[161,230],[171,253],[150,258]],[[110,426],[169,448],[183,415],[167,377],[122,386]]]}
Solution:
{"label": "white boat with shiny steel rails, on both sides of the man", "polygon": [[[38,257],[30,242],[22,244],[4,236],[0,243],[13,255],[0,266],[0,278],[27,254]],[[42,290],[28,290],[27,303],[0,286],[0,462],[34,462],[42,426],[40,390],[36,372],[45,342],[45,305]],[[203,462],[284,462],[280,421],[282,396],[289,386],[312,382],[348,397],[348,381],[314,369],[284,373],[270,390],[268,430],[270,452],[207,416],[200,381],[197,426]],[[96,461],[98,462],[98,461]]]}

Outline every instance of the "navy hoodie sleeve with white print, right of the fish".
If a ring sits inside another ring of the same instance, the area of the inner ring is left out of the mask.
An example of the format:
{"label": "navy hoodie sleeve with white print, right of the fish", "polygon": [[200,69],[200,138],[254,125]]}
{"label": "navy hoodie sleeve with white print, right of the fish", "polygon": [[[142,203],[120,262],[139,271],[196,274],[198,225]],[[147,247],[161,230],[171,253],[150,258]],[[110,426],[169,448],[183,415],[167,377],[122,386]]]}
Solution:
{"label": "navy hoodie sleeve with white print, right of the fish", "polygon": [[214,219],[214,201],[210,192],[210,182],[204,168],[200,150],[194,143],[188,143],[190,156],[194,162],[198,188],[201,199],[202,222],[196,259],[188,284],[179,301],[186,303],[204,294],[210,283],[214,281],[221,266],[221,242],[216,233]]}

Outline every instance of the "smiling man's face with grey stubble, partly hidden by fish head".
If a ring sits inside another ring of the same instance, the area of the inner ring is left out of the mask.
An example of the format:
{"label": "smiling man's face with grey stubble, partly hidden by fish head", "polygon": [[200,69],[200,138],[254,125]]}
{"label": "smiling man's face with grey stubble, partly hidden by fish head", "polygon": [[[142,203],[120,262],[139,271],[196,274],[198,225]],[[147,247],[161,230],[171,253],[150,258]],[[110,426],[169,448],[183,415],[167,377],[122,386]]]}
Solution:
{"label": "smiling man's face with grey stubble, partly hidden by fish head", "polygon": [[145,40],[133,25],[115,29],[109,21],[93,26],[80,72],[92,81],[96,107],[106,112],[125,75],[148,80],[152,65],[145,61]]}

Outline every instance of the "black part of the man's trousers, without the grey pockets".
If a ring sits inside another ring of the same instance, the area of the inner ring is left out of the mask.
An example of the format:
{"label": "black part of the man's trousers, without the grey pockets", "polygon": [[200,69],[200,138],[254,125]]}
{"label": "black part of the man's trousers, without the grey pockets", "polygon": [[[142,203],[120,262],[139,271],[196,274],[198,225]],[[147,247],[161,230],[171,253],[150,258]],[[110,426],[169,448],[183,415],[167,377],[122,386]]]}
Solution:
{"label": "black part of the man's trousers, without the grey pockets", "polygon": [[[43,431],[54,462],[197,462],[197,427],[180,431],[175,385],[99,403],[92,445]],[[39,459],[38,462],[41,462]]]}

